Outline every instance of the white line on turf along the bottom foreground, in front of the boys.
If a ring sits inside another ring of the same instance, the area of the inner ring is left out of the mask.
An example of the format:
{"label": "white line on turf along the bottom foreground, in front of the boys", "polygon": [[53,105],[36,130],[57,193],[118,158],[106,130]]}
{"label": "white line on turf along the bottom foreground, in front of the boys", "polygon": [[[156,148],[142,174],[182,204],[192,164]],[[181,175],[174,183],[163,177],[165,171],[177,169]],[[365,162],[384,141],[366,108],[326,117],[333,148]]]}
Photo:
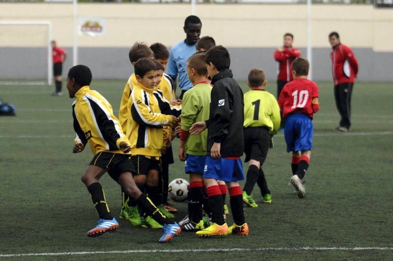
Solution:
{"label": "white line on turf along the bottom foreground, in front of the boys", "polygon": [[393,250],[393,247],[262,247],[262,248],[223,248],[223,249],[152,249],[152,250],[125,250],[125,251],[84,251],[59,253],[27,253],[27,254],[1,254],[0,258],[31,257],[31,256],[72,256],[97,254],[133,254],[133,253],[178,253],[178,252],[234,252],[234,251],[366,251],[366,250]]}

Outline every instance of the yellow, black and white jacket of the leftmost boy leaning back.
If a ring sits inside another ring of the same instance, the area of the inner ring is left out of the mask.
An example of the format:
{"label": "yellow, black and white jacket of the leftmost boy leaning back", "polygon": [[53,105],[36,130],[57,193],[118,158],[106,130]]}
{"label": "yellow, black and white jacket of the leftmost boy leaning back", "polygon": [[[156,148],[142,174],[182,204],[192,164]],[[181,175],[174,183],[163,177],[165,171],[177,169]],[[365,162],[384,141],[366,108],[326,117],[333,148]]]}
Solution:
{"label": "yellow, black and white jacket of the leftmost boy leaning back", "polygon": [[113,116],[112,105],[97,91],[83,86],[75,94],[72,116],[76,132],[75,143],[85,146],[88,142],[94,155],[102,151],[124,154],[119,150],[119,144],[129,141],[119,121]]}

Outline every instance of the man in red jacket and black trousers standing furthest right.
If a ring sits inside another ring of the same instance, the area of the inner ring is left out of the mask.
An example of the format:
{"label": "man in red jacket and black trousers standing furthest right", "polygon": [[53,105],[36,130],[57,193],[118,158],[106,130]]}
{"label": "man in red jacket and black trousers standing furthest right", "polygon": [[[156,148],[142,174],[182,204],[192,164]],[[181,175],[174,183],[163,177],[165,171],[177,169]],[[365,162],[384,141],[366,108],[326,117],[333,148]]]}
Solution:
{"label": "man in red jacket and black trousers standing furthest right", "polygon": [[352,50],[340,43],[337,32],[329,34],[332,46],[332,73],[335,83],[335,99],[341,120],[337,130],[348,131],[351,127],[351,96],[355,78],[358,74],[358,61]]}

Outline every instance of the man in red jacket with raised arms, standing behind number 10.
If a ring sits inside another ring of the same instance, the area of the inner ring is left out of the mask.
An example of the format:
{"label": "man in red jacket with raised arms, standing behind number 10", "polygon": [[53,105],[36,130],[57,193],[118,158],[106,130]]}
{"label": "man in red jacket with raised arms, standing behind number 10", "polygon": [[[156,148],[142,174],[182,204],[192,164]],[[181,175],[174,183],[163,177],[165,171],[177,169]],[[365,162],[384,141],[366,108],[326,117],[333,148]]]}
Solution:
{"label": "man in red jacket with raised arms, standing behind number 10", "polygon": [[277,99],[284,85],[293,80],[291,63],[296,57],[300,57],[300,50],[292,47],[293,35],[284,34],[283,46],[277,48],[274,52],[274,59],[279,63],[279,72],[277,76]]}

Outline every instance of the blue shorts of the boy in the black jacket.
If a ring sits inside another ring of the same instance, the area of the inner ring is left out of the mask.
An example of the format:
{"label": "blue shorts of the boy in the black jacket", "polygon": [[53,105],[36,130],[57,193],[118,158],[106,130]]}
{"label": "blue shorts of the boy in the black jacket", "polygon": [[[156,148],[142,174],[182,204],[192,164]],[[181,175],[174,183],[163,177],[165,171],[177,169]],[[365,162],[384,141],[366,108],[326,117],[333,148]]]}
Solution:
{"label": "blue shorts of the boy in the black jacket", "polygon": [[225,182],[244,180],[242,160],[206,157],[203,178],[215,179]]}

